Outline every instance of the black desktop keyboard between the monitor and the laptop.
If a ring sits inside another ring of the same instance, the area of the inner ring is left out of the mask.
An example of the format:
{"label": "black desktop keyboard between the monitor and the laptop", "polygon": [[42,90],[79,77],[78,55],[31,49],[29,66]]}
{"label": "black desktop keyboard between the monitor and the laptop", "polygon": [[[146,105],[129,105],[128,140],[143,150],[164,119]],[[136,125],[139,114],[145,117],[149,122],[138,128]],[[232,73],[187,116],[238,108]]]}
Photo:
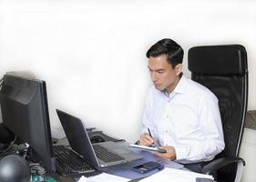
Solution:
{"label": "black desktop keyboard between the monitor and the laptop", "polygon": [[100,172],[87,161],[65,146],[54,146],[56,171],[62,176],[95,176]]}

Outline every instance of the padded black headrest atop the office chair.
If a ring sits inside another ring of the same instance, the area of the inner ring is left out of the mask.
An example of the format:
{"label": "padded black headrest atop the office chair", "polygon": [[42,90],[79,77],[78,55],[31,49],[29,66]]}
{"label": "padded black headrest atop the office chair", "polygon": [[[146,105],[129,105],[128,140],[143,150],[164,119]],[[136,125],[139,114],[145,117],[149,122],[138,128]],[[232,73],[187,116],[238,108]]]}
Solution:
{"label": "padded black headrest atop the office chair", "polygon": [[242,45],[195,46],[189,49],[189,70],[210,75],[244,75],[247,54]]}

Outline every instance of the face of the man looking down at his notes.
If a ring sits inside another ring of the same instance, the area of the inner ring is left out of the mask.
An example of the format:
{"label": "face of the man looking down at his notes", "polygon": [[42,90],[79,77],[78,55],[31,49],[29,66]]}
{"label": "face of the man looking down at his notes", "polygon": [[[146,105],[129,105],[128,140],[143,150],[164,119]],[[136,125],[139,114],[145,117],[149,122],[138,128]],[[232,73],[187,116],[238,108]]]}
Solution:
{"label": "face of the man looking down at his notes", "polygon": [[148,59],[148,69],[151,80],[158,90],[167,90],[170,93],[177,86],[179,74],[181,73],[181,64],[173,68],[168,63],[166,55],[150,56]]}

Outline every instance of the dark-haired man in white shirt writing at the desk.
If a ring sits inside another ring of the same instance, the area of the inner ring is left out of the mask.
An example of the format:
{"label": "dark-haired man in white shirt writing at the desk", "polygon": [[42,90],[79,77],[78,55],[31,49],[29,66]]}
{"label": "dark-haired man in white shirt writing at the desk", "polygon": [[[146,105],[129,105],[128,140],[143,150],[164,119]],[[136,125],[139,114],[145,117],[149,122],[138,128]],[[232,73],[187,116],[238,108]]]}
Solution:
{"label": "dark-haired man in white shirt writing at the desk", "polygon": [[225,147],[220,110],[217,97],[208,88],[182,75],[183,55],[180,45],[171,39],[162,39],[148,49],[154,86],[148,92],[139,143],[159,144],[167,151],[157,153],[159,157],[201,164]]}

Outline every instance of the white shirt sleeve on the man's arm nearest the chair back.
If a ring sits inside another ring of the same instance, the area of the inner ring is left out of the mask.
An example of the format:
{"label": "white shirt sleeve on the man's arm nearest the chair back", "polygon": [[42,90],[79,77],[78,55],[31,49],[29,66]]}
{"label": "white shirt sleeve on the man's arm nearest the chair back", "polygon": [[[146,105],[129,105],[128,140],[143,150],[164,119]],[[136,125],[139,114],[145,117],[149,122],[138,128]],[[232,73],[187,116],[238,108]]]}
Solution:
{"label": "white shirt sleeve on the man's arm nearest the chair back", "polygon": [[204,139],[176,146],[177,160],[208,161],[225,147],[217,97],[211,93],[201,96],[198,109]]}

